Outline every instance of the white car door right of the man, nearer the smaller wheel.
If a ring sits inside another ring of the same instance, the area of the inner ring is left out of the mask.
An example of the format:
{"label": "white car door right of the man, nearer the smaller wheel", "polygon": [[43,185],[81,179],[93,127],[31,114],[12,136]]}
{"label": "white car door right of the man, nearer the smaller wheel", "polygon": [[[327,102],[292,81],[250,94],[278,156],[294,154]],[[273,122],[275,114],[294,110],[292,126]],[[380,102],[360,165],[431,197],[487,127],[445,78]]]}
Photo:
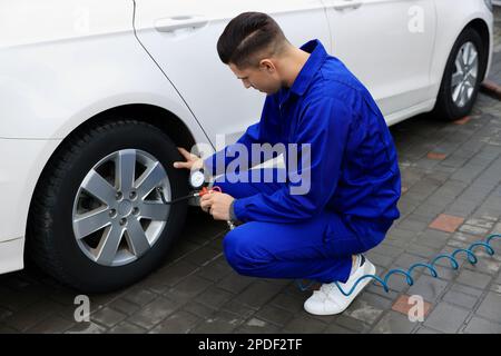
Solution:
{"label": "white car door right of the man, nearer the smaller wheel", "polygon": [[430,98],[433,0],[323,0],[332,52],[369,88],[382,112]]}

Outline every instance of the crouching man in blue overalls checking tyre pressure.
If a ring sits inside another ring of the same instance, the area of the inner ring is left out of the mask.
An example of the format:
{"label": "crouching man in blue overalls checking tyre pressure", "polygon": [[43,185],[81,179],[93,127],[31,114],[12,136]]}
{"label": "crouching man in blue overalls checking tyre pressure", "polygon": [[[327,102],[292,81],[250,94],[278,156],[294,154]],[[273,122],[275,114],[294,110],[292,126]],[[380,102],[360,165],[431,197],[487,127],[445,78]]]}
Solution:
{"label": "crouching man in blue overalls checking tyre pressure", "polygon": [[[215,180],[223,192],[203,196],[200,207],[215,219],[244,222],[224,238],[225,256],[237,273],[317,280],[322,286],[305,301],[306,312],[342,313],[369,279],[350,296],[335,283],[347,291],[361,276],[375,273],[362,253],[380,244],[400,216],[401,177],[383,115],[318,40],[296,48],[265,13],[233,19],[217,50],[246,88],[267,93],[259,122],[237,144],[249,152],[253,144],[310,145],[310,166],[298,170],[307,170],[311,182],[306,192],[294,195],[291,180],[277,181],[279,168],[262,168],[258,181],[250,174],[255,169],[247,170],[246,181],[224,174]],[[186,161],[174,166],[218,175],[234,149],[226,146],[202,160],[179,148]],[[263,181],[266,170],[272,182]]]}

